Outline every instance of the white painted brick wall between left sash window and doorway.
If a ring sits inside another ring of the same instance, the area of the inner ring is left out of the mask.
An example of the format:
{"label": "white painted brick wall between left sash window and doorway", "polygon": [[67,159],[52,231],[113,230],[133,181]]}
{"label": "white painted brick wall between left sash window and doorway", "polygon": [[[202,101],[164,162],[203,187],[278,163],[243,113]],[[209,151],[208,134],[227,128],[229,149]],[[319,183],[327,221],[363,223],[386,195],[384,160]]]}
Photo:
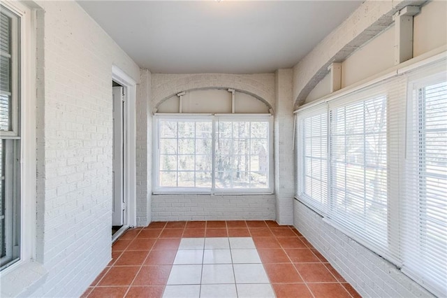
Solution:
{"label": "white painted brick wall between left sash window and doorway", "polygon": [[111,255],[112,65],[138,66],[74,1],[38,1],[36,260],[33,297],[78,297]]}

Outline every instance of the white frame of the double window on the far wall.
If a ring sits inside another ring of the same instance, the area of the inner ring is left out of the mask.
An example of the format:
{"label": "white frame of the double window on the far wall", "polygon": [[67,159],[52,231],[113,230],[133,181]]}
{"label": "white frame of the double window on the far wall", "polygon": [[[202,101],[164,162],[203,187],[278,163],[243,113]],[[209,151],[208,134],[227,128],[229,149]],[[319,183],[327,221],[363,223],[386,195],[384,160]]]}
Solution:
{"label": "white frame of the double window on the far wall", "polygon": [[[251,120],[251,121],[265,121],[269,123],[269,132],[268,132],[268,187],[266,188],[258,188],[258,189],[250,189],[250,188],[228,188],[228,189],[219,189],[215,187],[215,162],[216,162],[216,122],[219,119],[223,120]],[[159,186],[159,120],[210,120],[212,122],[212,187],[160,187]],[[154,115],[154,194],[272,194],[273,193],[273,116],[270,114],[182,114],[182,113],[156,113]]]}

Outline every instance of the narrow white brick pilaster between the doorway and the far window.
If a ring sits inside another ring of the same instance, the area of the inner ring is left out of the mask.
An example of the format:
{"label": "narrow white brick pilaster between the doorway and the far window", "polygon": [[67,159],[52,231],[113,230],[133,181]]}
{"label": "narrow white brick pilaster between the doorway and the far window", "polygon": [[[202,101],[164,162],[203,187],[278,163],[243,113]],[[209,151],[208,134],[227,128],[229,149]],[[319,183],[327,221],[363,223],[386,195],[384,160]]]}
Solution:
{"label": "narrow white brick pilaster between the doorway and the far window", "polygon": [[136,183],[137,183],[137,226],[145,227],[151,222],[151,179],[152,179],[152,108],[151,73],[141,69],[140,85],[136,99]]}

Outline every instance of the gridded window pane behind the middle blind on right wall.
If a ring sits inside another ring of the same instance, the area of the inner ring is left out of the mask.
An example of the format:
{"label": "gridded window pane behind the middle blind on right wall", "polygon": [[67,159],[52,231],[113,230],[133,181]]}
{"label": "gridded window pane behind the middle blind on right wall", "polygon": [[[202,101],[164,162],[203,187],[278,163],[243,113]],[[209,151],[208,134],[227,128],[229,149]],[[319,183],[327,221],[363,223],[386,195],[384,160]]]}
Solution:
{"label": "gridded window pane behind the middle blind on right wall", "polygon": [[387,245],[386,97],[330,112],[331,216]]}

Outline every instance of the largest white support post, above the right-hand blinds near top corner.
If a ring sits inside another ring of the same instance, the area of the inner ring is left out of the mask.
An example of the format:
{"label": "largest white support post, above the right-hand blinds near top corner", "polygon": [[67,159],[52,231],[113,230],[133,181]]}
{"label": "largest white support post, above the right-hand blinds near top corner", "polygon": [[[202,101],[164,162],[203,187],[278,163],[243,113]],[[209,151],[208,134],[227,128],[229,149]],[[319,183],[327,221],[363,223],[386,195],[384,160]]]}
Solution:
{"label": "largest white support post, above the right-hand blinds near top corner", "polygon": [[419,6],[406,6],[393,15],[395,21],[395,65],[413,58],[413,16],[419,11]]}

